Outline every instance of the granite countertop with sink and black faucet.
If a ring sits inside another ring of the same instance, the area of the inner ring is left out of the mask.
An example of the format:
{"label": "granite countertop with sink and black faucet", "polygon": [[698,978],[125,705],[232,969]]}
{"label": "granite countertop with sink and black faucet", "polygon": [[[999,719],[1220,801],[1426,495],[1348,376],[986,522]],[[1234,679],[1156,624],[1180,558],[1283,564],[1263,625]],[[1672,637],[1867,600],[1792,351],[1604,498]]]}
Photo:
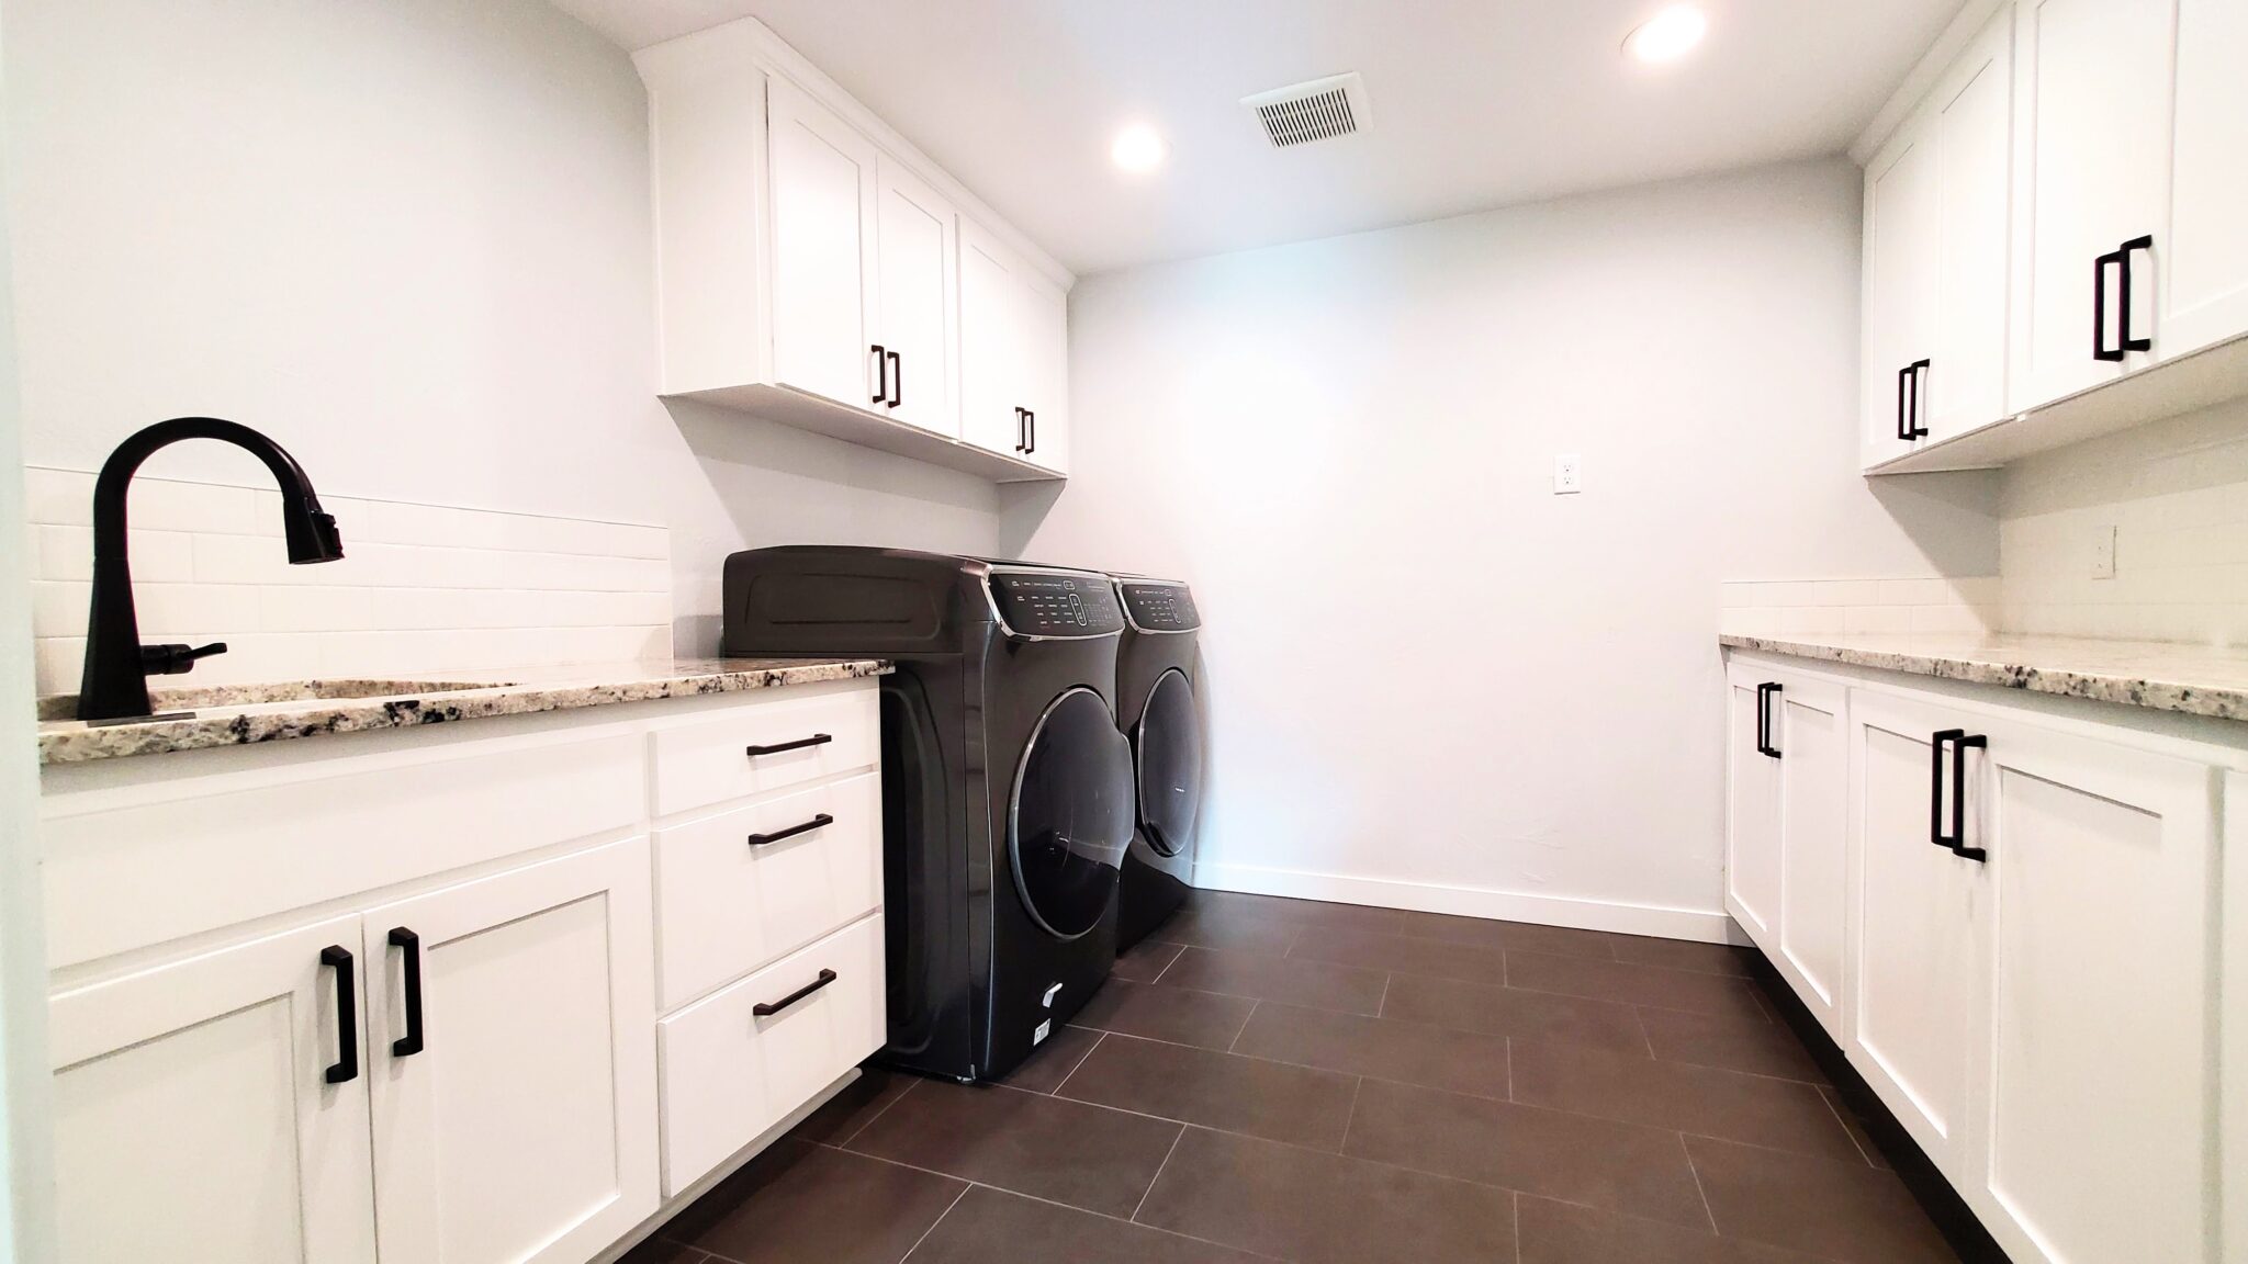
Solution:
{"label": "granite countertop with sink and black faucet", "polygon": [[157,715],[83,724],[74,695],[38,702],[38,762],[67,765],[205,747],[247,747],[324,733],[366,733],[533,715],[659,697],[742,693],[785,684],[874,677],[879,659],[641,659],[522,670],[432,672],[425,679],[310,679],[209,688],[151,688]]}

